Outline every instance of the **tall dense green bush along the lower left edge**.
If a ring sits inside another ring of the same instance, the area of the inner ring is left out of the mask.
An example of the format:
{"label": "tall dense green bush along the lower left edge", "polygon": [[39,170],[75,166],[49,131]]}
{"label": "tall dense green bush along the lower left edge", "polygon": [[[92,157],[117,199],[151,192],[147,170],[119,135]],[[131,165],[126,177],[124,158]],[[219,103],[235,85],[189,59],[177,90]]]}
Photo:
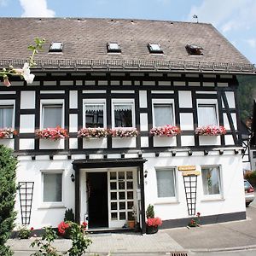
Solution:
{"label": "tall dense green bush along the lower left edge", "polygon": [[5,242],[15,227],[17,160],[12,150],[0,145],[0,255],[13,255]]}

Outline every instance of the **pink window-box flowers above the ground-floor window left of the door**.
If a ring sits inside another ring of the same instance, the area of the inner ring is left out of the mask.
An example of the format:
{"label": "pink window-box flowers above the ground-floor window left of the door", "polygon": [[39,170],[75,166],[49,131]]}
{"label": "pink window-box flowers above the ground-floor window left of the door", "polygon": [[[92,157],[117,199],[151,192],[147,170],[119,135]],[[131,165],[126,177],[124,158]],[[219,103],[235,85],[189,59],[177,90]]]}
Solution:
{"label": "pink window-box flowers above the ground-floor window left of the door", "polygon": [[36,136],[38,138],[44,138],[53,141],[68,137],[67,130],[61,128],[60,126],[57,126],[55,128],[46,128],[44,130],[37,130]]}

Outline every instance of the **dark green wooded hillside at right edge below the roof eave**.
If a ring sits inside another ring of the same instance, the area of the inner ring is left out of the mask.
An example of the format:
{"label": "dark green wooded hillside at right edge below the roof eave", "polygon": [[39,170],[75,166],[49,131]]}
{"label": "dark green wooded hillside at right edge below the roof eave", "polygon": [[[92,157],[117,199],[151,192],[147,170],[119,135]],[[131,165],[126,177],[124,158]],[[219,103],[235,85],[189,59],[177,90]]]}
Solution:
{"label": "dark green wooded hillside at right edge below the roof eave", "polygon": [[253,116],[253,99],[256,96],[255,76],[238,76],[239,86],[237,90],[238,103],[241,111],[241,119],[245,122]]}

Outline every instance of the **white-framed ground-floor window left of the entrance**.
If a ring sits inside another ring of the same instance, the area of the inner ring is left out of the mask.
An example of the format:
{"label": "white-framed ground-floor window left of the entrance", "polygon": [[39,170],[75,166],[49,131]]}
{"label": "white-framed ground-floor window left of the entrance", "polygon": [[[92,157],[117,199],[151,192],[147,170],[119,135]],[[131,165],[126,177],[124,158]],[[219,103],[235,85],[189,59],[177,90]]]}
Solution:
{"label": "white-framed ground-floor window left of the entrance", "polygon": [[44,205],[58,206],[63,203],[63,170],[42,172],[42,201]]}

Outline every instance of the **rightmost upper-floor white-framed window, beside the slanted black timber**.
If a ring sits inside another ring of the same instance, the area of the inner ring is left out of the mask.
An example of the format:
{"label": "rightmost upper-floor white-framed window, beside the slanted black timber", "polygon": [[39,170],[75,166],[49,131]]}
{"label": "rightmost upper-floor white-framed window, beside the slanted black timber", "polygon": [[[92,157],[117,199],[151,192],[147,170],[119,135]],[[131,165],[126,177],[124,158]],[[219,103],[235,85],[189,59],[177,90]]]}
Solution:
{"label": "rightmost upper-floor white-framed window, beside the slanted black timber", "polygon": [[217,101],[197,102],[198,126],[218,125]]}

